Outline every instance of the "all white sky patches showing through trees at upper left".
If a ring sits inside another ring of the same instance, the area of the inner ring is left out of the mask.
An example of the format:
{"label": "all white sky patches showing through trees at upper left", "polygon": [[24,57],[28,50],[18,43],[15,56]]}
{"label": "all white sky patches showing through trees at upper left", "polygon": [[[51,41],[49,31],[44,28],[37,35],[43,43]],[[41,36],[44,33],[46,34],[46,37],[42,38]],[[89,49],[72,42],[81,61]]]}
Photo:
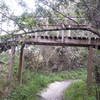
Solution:
{"label": "all white sky patches showing through trees at upper left", "polygon": [[[15,16],[20,16],[24,11],[25,8],[22,7],[19,3],[20,0],[3,0],[6,5],[10,8],[10,12],[13,13],[13,15]],[[28,7],[28,12],[33,12],[35,11],[36,7],[35,7],[35,0],[23,0],[25,2],[25,4]],[[1,26],[0,26],[1,27]],[[6,31],[11,31],[15,28],[13,22],[10,22],[9,25],[8,23],[3,23],[2,24],[2,29],[6,30]],[[6,34],[5,32],[0,32],[0,35],[4,35]]]}

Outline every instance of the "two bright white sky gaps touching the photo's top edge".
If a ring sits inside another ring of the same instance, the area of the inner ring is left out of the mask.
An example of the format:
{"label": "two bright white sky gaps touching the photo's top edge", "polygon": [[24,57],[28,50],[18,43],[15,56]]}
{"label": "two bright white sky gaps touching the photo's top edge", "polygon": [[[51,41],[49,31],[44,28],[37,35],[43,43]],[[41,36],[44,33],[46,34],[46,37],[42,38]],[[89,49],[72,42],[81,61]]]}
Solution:
{"label": "two bright white sky gaps touching the photo's top edge", "polygon": [[[21,7],[18,3],[20,0],[4,0],[7,6],[11,9],[11,12],[16,16],[20,16],[24,12],[24,8]],[[35,11],[35,0],[23,0],[27,7],[28,11]]]}

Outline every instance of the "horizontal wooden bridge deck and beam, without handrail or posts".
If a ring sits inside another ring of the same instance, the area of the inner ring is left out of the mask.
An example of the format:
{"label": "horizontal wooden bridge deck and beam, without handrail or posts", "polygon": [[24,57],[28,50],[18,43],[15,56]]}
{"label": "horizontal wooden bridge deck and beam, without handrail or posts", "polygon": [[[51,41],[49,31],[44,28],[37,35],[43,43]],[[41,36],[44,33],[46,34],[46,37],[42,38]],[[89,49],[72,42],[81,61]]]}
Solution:
{"label": "horizontal wooden bridge deck and beam, without handrail or posts", "polygon": [[21,44],[29,45],[49,45],[49,46],[79,46],[79,47],[98,47],[100,49],[100,38],[95,37],[63,37],[49,35],[27,35],[13,36],[12,38],[0,41],[0,51],[11,49],[11,46]]}

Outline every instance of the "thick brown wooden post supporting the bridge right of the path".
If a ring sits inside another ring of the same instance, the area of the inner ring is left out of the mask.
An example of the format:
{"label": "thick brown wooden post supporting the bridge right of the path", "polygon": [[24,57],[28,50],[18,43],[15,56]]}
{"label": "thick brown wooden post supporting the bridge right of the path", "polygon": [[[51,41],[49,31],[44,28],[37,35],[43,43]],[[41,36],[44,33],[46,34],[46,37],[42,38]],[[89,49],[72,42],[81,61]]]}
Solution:
{"label": "thick brown wooden post supporting the bridge right of the path", "polygon": [[93,83],[93,67],[94,67],[94,49],[92,46],[89,46],[88,52],[88,69],[87,69],[87,82],[88,84]]}

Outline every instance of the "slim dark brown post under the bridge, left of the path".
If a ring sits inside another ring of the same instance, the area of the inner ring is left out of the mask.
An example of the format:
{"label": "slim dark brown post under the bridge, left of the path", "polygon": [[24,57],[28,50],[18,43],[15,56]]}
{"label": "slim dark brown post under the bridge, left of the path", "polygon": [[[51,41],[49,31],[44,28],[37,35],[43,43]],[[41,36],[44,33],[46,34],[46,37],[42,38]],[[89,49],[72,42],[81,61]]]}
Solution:
{"label": "slim dark brown post under the bridge, left of the path", "polygon": [[22,84],[22,72],[23,72],[23,61],[24,61],[24,47],[25,44],[22,45],[20,49],[20,58],[19,58],[19,70],[18,70],[18,81],[19,84]]}

